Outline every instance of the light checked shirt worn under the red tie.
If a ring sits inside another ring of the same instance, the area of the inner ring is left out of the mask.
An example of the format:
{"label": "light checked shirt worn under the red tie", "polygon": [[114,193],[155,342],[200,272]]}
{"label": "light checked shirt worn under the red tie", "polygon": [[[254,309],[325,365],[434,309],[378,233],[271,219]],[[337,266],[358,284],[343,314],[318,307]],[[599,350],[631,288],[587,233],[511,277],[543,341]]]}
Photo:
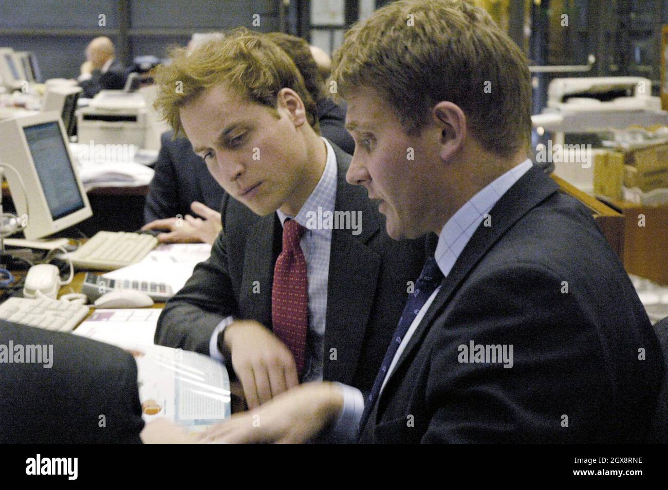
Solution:
{"label": "light checked shirt worn under the red tie", "polygon": [[[281,225],[288,218],[307,228],[301,238],[299,245],[304,252],[306,260],[307,279],[309,282],[309,332],[307,333],[307,352],[305,354],[304,374],[302,382],[322,381],[323,379],[323,338],[325,336],[325,324],[327,322],[327,281],[329,280],[329,252],[331,250],[331,229],[309,229],[307,222],[309,216],[318,216],[319,209],[334,212],[337,186],[337,162],[334,149],[325,138],[322,138],[327,148],[327,160],[325,170],[318,184],[301,207],[297,216],[277,210],[276,214],[281,220]],[[313,213],[313,215],[311,215]],[[315,220],[317,222],[317,220]],[[218,350],[218,335],[226,326],[234,321],[232,316],[224,318],[209,341],[209,354],[212,358],[224,362],[224,357]]]}

